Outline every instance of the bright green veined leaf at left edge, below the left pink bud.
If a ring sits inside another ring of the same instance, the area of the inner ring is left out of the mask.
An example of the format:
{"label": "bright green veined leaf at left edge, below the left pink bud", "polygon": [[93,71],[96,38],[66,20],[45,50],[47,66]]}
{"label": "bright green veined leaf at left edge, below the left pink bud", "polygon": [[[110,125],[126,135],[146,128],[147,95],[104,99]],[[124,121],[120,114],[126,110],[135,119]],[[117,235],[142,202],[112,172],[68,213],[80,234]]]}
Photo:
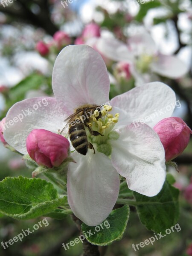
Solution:
{"label": "bright green veined leaf at left edge, below the left pink bud", "polygon": [[51,183],[41,179],[7,177],[0,182],[0,212],[16,219],[37,218],[67,203]]}

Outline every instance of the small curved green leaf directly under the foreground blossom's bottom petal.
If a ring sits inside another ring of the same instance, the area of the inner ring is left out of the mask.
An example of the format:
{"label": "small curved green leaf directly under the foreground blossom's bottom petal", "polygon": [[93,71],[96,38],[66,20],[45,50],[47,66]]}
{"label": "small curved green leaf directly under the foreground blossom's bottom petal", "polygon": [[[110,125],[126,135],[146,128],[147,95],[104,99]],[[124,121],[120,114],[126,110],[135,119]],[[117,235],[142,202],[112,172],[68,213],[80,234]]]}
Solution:
{"label": "small curved green leaf directly under the foreground blossom's bottom petal", "polygon": [[[128,218],[129,207],[128,205],[124,205],[121,208],[113,210],[108,218],[102,222],[102,224],[96,227],[90,227],[83,223],[81,228],[86,239],[91,244],[96,244],[99,246],[108,245],[113,241],[120,240],[122,238],[127,226]],[[88,233],[89,231],[91,231],[93,235],[90,236],[90,233]]]}

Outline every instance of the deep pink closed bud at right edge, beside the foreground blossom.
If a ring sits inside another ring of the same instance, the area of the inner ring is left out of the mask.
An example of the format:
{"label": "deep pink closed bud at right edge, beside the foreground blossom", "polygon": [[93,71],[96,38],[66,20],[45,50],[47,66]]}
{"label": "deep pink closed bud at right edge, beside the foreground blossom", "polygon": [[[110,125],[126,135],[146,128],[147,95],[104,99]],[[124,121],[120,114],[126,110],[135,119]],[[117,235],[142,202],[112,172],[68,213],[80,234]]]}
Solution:
{"label": "deep pink closed bud at right edge, beside the foreground blossom", "polygon": [[179,117],[168,117],[154,126],[165,149],[166,161],[180,155],[189,143],[192,130]]}

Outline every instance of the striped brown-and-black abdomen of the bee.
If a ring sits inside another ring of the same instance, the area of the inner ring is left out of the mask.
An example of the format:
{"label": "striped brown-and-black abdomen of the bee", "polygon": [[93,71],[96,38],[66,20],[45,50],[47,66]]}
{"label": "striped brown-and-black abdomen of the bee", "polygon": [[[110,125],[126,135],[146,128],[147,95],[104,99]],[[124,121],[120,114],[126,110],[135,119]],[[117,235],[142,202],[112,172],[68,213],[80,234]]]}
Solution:
{"label": "striped brown-and-black abdomen of the bee", "polygon": [[86,155],[88,150],[87,134],[82,123],[76,123],[69,129],[70,141],[80,154]]}

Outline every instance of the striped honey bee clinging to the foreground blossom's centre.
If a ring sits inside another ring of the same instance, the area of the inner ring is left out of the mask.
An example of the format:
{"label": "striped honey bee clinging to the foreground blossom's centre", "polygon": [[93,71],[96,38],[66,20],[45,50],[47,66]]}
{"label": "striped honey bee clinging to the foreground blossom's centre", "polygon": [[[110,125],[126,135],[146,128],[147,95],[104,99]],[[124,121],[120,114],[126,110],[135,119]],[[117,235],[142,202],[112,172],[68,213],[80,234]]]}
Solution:
{"label": "striped honey bee clinging to the foreground blossom's centre", "polygon": [[[81,108],[77,108],[75,113],[73,113],[71,116],[67,117],[67,119],[64,120],[64,122],[68,120],[68,134],[73,147],[76,149],[77,152],[83,154],[84,156],[87,154],[88,148],[93,149],[95,154],[93,144],[88,142],[85,127],[87,127],[88,131],[92,136],[103,136],[98,131],[93,131],[92,128],[89,126],[90,116],[93,115],[95,110],[101,109],[101,107],[102,106],[97,105],[82,106]],[[96,119],[99,119],[101,116],[101,111],[99,111],[99,116],[96,117]],[[65,127],[63,128],[61,133],[64,131]]]}

